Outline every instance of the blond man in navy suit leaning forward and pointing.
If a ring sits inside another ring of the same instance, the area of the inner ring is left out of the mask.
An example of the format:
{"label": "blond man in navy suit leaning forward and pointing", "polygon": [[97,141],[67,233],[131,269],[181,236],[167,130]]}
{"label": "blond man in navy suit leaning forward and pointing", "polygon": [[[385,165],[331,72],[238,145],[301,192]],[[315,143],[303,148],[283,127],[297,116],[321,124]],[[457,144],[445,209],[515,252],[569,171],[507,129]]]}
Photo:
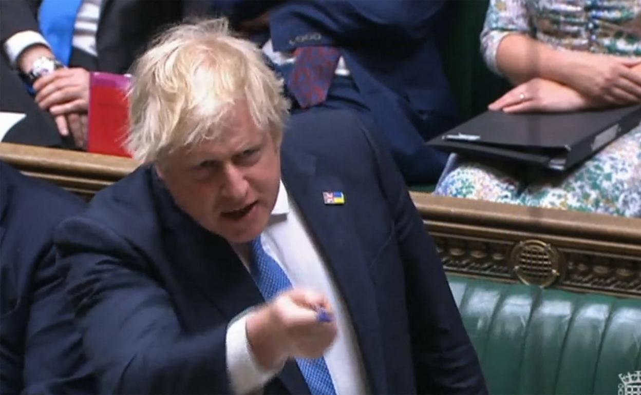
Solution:
{"label": "blond man in navy suit leaning forward and pointing", "polygon": [[282,90],[224,19],[137,61],[146,165],[56,234],[100,392],[486,392],[387,150],[347,111],[283,138]]}

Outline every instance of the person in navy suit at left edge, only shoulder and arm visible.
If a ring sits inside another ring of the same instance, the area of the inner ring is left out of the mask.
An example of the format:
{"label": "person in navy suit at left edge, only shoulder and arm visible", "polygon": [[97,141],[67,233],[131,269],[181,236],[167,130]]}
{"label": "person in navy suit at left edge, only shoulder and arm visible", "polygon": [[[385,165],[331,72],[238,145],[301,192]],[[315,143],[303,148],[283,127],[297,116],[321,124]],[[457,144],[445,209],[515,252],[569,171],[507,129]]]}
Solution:
{"label": "person in navy suit at left edge, only shoulder and arm visible", "polygon": [[55,270],[53,229],[78,197],[0,162],[0,393],[91,394],[74,314]]}

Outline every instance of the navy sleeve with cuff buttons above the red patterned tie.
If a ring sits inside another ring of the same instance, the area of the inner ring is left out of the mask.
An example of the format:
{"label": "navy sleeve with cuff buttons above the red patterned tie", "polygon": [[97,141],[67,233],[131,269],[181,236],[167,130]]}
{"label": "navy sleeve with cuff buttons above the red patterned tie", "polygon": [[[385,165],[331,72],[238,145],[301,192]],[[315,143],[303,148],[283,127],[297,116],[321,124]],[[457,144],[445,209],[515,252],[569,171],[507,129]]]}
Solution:
{"label": "navy sleeve with cuff buttons above the red patterned tie", "polygon": [[270,16],[276,51],[299,46],[407,45],[422,40],[443,6],[442,0],[294,1]]}

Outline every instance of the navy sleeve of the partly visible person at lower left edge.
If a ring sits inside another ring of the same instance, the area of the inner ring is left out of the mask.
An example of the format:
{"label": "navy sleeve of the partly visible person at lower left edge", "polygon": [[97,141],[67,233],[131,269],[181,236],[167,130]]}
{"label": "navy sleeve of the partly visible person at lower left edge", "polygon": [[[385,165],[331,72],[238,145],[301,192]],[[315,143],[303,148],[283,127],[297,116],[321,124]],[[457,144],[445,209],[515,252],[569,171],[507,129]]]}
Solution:
{"label": "navy sleeve of the partly visible person at lower left edge", "polygon": [[82,339],[54,262],[54,250],[49,245],[33,277],[22,392],[86,394],[94,388],[92,371],[82,353]]}

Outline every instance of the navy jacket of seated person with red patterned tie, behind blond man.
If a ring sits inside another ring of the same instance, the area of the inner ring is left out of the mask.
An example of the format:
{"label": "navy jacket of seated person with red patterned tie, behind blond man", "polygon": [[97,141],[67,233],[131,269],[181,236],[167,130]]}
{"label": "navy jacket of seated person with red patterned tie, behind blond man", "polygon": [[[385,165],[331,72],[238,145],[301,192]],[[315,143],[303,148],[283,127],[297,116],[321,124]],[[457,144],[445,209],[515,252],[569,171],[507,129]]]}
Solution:
{"label": "navy jacket of seated person with red patterned tie, behind blond man", "polygon": [[[424,141],[452,127],[457,118],[437,47],[437,22],[444,15],[444,3],[212,0],[212,8],[237,24],[273,7],[269,36],[276,51],[337,47],[358,88],[357,98],[350,99],[369,109],[412,184],[437,181],[446,156]],[[344,107],[354,108],[347,102]]]}

